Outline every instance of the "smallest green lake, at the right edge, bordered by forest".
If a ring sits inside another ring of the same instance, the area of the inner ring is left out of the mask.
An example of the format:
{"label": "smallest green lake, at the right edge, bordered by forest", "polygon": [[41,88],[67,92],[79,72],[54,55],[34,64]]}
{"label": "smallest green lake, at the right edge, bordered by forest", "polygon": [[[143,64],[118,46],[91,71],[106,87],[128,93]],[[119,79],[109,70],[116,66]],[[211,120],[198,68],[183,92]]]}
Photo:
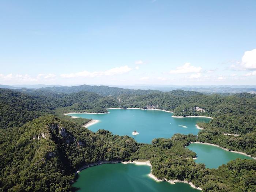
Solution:
{"label": "smallest green lake, at the right edge, bordered by forest", "polygon": [[231,151],[223,150],[220,147],[207,144],[191,143],[188,148],[196,153],[197,158],[195,159],[195,162],[204,163],[208,168],[218,168],[222,164],[226,164],[236,158],[253,159],[246,155],[233,153]]}

